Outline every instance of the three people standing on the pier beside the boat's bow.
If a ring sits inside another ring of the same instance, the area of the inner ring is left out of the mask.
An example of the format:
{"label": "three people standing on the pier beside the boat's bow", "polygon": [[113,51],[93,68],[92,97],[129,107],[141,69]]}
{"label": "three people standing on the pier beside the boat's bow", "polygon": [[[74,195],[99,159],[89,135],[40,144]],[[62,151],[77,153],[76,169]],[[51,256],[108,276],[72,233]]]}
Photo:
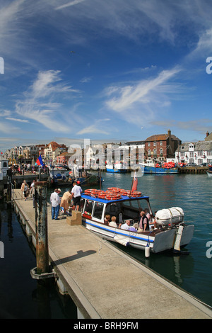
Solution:
{"label": "three people standing on the pier beside the boat's bow", "polygon": [[73,188],[66,191],[62,198],[59,197],[61,193],[60,188],[55,188],[54,192],[50,196],[52,204],[52,220],[59,220],[59,209],[64,209],[64,214],[69,210],[69,200],[73,199],[72,210],[78,210],[81,203],[81,193],[83,192],[81,186],[78,186],[76,182],[73,182]]}

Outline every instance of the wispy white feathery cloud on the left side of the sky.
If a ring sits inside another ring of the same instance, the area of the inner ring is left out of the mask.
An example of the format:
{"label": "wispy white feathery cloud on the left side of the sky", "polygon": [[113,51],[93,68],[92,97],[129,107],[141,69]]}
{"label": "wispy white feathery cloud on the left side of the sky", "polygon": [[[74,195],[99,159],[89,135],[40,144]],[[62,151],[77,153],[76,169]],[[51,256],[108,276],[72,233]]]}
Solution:
{"label": "wispy white feathery cloud on the left side of the sky", "polygon": [[63,94],[78,92],[61,82],[59,71],[39,72],[30,89],[23,94],[23,100],[16,102],[16,113],[41,123],[49,130],[68,132],[69,126],[61,113],[62,103],[55,100],[58,95],[61,100]]}

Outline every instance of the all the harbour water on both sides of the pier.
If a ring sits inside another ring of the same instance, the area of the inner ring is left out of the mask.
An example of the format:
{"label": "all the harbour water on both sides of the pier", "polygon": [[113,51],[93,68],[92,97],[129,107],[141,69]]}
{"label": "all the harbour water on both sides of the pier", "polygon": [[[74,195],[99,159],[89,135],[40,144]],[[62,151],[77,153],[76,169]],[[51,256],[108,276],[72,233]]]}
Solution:
{"label": "all the harbour water on both sides of the pier", "polygon": [[[103,190],[111,186],[131,187],[131,174],[103,172],[102,178]],[[160,208],[182,207],[184,220],[195,226],[192,242],[184,249],[189,254],[173,256],[164,252],[151,254],[146,259],[144,252],[117,247],[212,306],[212,258],[208,255],[212,251],[206,246],[210,241],[212,244],[212,179],[207,174],[144,174],[139,177],[138,190],[150,196],[153,212]],[[65,188],[62,193],[64,191]],[[3,201],[0,206],[0,241],[4,242],[4,258],[0,259],[0,317],[76,318],[72,300],[61,296],[54,283],[43,288],[31,278],[30,269],[36,266],[35,251],[14,211]]]}

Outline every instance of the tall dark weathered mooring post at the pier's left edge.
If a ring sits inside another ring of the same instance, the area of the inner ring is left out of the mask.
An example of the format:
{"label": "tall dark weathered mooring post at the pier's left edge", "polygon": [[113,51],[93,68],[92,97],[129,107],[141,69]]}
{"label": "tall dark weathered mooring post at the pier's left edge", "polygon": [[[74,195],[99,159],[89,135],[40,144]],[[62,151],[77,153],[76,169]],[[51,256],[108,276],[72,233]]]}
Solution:
{"label": "tall dark weathered mooring post at the pier's left edge", "polygon": [[35,231],[37,274],[49,272],[47,182],[35,182]]}

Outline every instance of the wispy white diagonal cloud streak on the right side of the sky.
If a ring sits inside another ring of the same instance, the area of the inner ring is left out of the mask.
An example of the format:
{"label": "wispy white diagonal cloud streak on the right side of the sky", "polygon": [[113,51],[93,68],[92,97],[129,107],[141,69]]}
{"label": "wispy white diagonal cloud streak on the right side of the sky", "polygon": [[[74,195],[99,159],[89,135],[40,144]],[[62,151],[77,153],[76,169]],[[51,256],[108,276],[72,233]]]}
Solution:
{"label": "wispy white diagonal cloud streak on the right side of the sky", "polygon": [[[129,123],[153,121],[161,107],[170,105],[170,94],[176,94],[177,84],[171,80],[180,72],[174,68],[160,72],[158,77],[136,81],[126,86],[110,86],[105,90],[109,110],[121,114]],[[157,105],[157,108],[155,108]]]}

